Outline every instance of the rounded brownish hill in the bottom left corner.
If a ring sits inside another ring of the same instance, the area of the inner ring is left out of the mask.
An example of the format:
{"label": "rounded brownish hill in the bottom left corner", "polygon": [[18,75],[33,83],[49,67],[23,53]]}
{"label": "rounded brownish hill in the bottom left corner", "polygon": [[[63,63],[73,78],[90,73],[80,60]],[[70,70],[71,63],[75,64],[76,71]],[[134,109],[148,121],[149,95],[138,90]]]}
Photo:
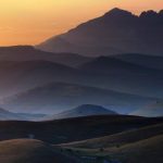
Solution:
{"label": "rounded brownish hill in the bottom left corner", "polygon": [[55,152],[51,145],[39,140],[13,139],[0,142],[2,163],[78,163]]}

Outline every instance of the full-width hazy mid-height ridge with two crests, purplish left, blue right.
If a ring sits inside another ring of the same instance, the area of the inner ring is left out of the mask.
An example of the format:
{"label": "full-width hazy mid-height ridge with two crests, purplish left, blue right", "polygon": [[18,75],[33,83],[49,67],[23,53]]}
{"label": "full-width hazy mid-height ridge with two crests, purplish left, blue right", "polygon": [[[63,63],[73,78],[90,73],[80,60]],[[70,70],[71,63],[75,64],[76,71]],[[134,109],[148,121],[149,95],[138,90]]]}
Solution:
{"label": "full-width hazy mid-height ridge with two crests, purplish left, blue right", "polygon": [[130,95],[163,97],[162,70],[108,57],[91,59],[78,67],[43,60],[1,61],[0,77],[0,98],[49,83],[72,83]]}

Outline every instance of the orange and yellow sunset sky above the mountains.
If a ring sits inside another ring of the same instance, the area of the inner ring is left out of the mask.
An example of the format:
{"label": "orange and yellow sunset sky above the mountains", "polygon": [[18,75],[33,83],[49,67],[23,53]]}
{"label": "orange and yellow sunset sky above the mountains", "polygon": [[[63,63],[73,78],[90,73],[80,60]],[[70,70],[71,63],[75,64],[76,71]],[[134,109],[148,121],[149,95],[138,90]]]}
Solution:
{"label": "orange and yellow sunset sky above the mountains", "polygon": [[37,45],[113,8],[139,14],[163,0],[0,0],[0,46]]}

